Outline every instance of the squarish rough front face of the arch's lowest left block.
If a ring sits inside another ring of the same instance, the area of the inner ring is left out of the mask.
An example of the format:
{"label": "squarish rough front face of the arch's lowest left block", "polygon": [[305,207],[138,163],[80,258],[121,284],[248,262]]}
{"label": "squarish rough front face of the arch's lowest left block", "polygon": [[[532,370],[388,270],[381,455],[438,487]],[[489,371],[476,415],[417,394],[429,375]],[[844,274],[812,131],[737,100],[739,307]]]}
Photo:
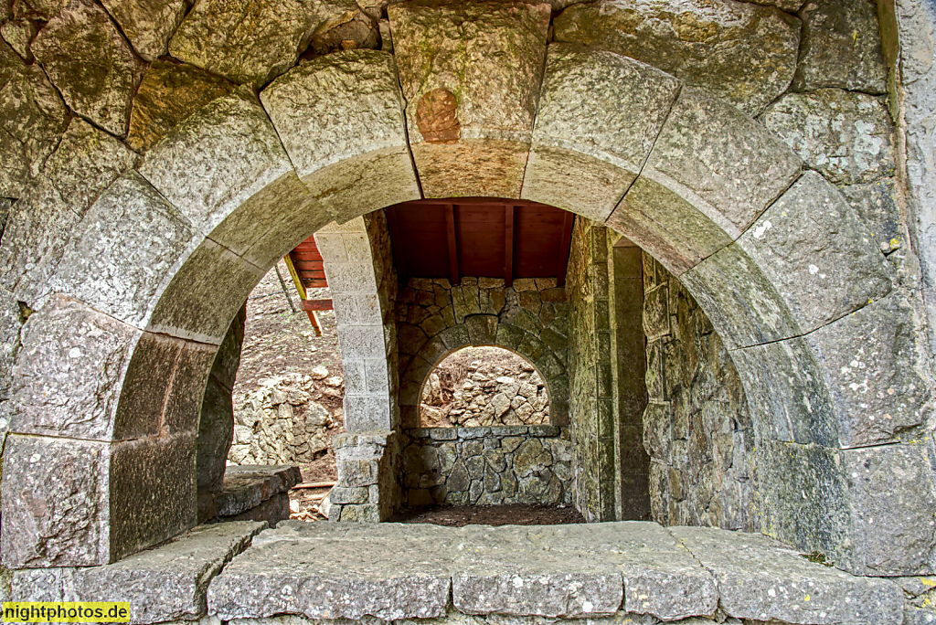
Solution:
{"label": "squarish rough front face of the arch's lowest left block", "polygon": [[107,562],[107,443],[12,434],[4,448],[3,561],[10,568]]}

